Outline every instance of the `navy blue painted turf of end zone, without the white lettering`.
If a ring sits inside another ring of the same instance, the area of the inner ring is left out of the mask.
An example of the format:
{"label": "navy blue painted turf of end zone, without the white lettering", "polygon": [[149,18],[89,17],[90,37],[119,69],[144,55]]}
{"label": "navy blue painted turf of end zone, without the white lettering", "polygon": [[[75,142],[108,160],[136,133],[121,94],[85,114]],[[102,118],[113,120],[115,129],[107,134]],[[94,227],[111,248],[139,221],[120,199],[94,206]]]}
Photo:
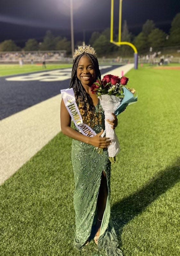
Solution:
{"label": "navy blue painted turf of end zone, without the white lettering", "polygon": [[[119,65],[102,69],[101,73],[117,67]],[[60,90],[68,88],[70,83],[70,79],[55,82],[6,80],[15,76],[20,75],[0,77],[0,120],[60,94]]]}

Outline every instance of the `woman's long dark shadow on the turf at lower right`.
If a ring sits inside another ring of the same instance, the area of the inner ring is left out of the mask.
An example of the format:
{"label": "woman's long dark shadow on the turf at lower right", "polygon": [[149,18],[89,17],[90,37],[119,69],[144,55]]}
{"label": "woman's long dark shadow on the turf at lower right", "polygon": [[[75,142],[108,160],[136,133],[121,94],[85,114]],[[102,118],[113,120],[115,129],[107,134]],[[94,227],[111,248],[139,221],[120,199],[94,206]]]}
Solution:
{"label": "woman's long dark shadow on the turf at lower right", "polygon": [[[111,214],[117,235],[121,236],[125,224],[179,181],[180,158],[172,166],[159,172],[139,191],[114,204],[111,207]],[[121,245],[121,241],[119,242]]]}

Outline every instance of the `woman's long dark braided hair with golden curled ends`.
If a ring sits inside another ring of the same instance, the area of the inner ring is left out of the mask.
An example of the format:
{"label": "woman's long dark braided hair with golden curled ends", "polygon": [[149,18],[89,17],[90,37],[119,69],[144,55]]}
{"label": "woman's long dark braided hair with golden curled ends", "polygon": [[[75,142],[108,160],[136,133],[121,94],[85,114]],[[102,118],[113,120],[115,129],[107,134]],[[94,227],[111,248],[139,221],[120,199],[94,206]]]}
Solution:
{"label": "woman's long dark braided hair with golden curled ends", "polygon": [[[83,123],[88,124],[92,128],[94,125],[101,123],[101,116],[97,116],[97,113],[95,112],[94,105],[91,104],[90,96],[86,93],[84,87],[81,84],[81,81],[77,77],[77,66],[79,63],[79,60],[83,55],[87,55],[95,69],[95,80],[94,82],[99,78],[101,79],[101,73],[99,70],[99,63],[98,59],[95,55],[90,53],[81,53],[80,55],[76,56],[73,60],[73,67],[72,67],[72,73],[71,73],[71,82],[70,82],[70,88],[73,88],[76,103],[78,105],[78,108],[80,110]],[[94,121],[94,122],[92,122]]]}

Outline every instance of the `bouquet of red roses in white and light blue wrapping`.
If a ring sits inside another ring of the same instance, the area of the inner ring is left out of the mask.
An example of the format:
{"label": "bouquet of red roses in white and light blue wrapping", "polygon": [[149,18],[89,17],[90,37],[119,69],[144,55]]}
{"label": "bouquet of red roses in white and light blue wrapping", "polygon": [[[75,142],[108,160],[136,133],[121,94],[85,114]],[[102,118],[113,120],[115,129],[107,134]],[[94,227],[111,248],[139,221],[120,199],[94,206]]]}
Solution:
{"label": "bouquet of red roses in white and light blue wrapping", "polygon": [[125,85],[128,78],[123,76],[105,75],[102,80],[98,79],[91,86],[91,93],[97,93],[101,106],[105,114],[106,137],[109,137],[112,143],[108,146],[108,154],[111,162],[115,162],[115,156],[120,151],[119,142],[115,131],[106,119],[113,120],[114,116],[120,114],[131,103],[137,102],[137,92],[133,88]]}

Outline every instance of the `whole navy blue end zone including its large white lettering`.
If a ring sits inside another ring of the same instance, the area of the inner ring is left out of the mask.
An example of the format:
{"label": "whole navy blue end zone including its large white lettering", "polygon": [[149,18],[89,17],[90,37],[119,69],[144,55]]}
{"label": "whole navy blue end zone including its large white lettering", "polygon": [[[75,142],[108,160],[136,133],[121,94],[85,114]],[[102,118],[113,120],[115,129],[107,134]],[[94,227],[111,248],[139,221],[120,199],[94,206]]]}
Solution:
{"label": "whole navy blue end zone including its large white lettering", "polygon": [[[100,66],[101,74],[118,66]],[[0,120],[69,87],[71,68],[0,77]]]}

